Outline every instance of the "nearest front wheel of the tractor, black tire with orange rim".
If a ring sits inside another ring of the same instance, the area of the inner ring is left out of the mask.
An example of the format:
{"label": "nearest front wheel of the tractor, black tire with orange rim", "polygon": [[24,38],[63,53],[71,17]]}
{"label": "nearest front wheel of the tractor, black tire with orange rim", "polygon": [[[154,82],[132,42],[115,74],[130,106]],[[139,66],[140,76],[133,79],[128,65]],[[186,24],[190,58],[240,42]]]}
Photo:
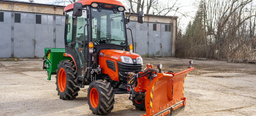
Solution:
{"label": "nearest front wheel of the tractor, black tire with orange rim", "polygon": [[88,88],[88,104],[90,110],[96,115],[105,115],[114,108],[115,93],[107,81],[97,80],[90,83]]}

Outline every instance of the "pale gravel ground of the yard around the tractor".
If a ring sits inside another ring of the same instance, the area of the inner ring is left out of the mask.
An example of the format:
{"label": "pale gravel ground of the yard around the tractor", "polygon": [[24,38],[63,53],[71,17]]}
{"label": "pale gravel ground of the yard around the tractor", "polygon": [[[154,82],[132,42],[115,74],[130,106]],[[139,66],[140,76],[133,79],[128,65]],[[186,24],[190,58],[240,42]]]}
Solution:
{"label": "pale gravel ground of the yard around the tractor", "polygon": [[[143,58],[161,63],[163,71],[186,69],[189,59]],[[256,116],[256,64],[193,60],[195,70],[185,80],[185,110],[177,116]],[[94,116],[87,88],[74,100],[57,96],[55,75],[47,80],[41,59],[0,59],[0,116]],[[142,116],[128,94],[115,95],[114,110],[106,116]]]}

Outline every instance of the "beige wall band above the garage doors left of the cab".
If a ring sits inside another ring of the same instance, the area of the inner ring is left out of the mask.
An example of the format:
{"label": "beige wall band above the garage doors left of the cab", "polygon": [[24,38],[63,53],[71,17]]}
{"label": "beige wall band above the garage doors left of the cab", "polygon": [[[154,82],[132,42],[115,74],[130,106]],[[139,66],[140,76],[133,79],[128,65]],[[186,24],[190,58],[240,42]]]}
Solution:
{"label": "beige wall band above the garage doors left of the cab", "polygon": [[63,8],[61,7],[54,8],[52,6],[34,6],[30,4],[16,4],[5,2],[0,2],[0,10],[63,15]]}

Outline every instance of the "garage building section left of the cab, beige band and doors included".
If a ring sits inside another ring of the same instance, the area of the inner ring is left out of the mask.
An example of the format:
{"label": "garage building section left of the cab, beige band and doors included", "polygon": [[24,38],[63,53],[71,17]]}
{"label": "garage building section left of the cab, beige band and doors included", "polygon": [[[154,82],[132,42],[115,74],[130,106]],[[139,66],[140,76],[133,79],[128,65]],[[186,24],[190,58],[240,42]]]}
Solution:
{"label": "garage building section left of the cab, beige band and doors included", "polygon": [[0,0],[0,58],[42,58],[64,48],[63,6]]}

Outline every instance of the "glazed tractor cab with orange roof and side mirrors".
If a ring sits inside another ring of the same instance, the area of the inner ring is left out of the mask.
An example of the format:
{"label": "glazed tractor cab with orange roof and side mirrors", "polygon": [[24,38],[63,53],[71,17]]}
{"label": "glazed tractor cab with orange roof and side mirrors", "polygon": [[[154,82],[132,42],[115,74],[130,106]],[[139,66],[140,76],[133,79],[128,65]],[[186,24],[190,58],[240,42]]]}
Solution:
{"label": "glazed tractor cab with orange roof and side mirrors", "polygon": [[[64,11],[66,52],[77,62],[79,76],[85,76],[82,70],[93,64],[100,65],[99,55],[104,55],[102,50],[132,52],[133,43],[128,43],[126,27],[129,17],[125,16],[126,9],[121,2],[80,0],[66,6]],[[138,22],[143,23],[144,13],[140,11],[139,14]]]}

